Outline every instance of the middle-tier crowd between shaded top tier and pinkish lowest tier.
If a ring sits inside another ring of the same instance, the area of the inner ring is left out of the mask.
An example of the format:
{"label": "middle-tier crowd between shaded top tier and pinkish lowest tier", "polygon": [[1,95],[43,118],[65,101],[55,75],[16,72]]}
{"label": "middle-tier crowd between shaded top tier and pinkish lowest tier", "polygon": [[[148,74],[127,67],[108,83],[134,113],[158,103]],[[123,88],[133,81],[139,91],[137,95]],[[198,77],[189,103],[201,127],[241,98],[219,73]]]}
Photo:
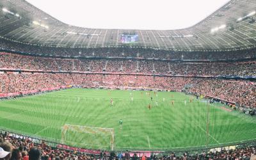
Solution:
{"label": "middle-tier crowd between shaded top tier and pinkish lowest tier", "polygon": [[256,61],[180,62],[160,60],[61,59],[0,52],[0,69],[122,72],[181,76],[256,76]]}

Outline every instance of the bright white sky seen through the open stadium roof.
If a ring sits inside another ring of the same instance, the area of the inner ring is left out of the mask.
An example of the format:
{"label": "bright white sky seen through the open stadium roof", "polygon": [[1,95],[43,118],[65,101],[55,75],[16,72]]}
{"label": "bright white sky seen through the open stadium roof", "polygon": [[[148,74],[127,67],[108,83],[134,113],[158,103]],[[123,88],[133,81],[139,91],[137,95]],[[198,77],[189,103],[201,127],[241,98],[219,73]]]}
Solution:
{"label": "bright white sky seen through the open stadium roof", "polygon": [[26,1],[66,24],[83,28],[182,29],[205,19],[230,0]]}

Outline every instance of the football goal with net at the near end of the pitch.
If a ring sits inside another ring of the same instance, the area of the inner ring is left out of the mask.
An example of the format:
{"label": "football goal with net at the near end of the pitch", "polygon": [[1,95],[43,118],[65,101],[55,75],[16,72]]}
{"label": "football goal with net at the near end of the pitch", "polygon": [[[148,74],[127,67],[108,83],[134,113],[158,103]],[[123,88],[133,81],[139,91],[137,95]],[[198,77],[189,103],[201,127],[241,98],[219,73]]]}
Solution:
{"label": "football goal with net at the near end of the pitch", "polygon": [[111,128],[65,124],[61,127],[61,143],[80,147],[110,147],[115,145],[115,132]]}

